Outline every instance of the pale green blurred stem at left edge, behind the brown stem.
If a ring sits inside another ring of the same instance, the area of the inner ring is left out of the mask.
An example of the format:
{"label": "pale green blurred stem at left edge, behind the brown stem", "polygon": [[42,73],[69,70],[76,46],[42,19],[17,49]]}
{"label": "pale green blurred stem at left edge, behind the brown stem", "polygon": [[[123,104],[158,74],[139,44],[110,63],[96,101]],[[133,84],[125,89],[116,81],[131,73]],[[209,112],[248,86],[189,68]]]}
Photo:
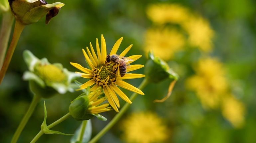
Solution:
{"label": "pale green blurred stem at left edge, behind the brown stem", "polygon": [[4,57],[12,30],[13,20],[14,17],[10,10],[3,13],[0,31],[0,68],[2,67],[4,62]]}

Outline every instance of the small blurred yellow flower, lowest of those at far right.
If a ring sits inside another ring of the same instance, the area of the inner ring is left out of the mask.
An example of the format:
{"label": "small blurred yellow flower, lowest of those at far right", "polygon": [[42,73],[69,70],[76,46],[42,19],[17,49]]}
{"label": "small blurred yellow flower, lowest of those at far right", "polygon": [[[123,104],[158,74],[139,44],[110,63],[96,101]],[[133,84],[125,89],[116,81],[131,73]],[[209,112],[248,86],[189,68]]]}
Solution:
{"label": "small blurred yellow flower, lowest of those at far right", "polygon": [[232,95],[223,99],[222,115],[234,126],[241,127],[244,124],[245,107]]}

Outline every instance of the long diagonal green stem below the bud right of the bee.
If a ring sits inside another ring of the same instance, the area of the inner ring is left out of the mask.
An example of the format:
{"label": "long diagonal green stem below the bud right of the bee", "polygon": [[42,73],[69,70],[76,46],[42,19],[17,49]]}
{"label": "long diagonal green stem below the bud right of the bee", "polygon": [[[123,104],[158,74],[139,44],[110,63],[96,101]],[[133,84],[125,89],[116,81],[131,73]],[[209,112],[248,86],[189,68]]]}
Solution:
{"label": "long diagonal green stem below the bud right of the bee", "polygon": [[[148,84],[147,78],[144,78],[142,83],[139,86],[139,89],[145,88]],[[138,93],[133,93],[130,100],[133,101],[137,97]],[[96,136],[94,136],[88,143],[96,143],[112,126],[114,126],[117,121],[123,116],[123,114],[127,111],[131,104],[125,103],[123,108],[116,114],[116,116],[106,125]]]}

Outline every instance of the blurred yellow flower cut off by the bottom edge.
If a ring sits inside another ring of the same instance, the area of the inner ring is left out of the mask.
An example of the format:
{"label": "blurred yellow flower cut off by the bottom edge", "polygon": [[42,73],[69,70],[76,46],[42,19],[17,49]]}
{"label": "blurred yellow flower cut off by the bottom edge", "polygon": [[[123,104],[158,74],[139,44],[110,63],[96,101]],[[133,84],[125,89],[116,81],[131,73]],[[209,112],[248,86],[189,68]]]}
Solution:
{"label": "blurred yellow flower cut off by the bottom edge", "polygon": [[123,137],[129,143],[160,143],[168,137],[163,121],[153,113],[133,113],[122,123]]}

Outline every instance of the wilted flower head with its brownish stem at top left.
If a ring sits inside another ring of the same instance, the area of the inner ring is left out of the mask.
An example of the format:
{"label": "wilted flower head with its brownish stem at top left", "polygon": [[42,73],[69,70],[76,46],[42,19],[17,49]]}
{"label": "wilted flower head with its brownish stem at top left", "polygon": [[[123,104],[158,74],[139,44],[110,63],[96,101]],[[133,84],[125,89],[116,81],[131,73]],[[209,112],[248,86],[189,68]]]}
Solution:
{"label": "wilted flower head with its brownish stem at top left", "polygon": [[58,15],[59,10],[64,6],[60,2],[48,4],[45,0],[9,0],[9,5],[16,22],[12,41],[0,71],[0,83],[4,78],[24,27],[38,22],[45,15],[45,23],[48,24],[53,17]]}

